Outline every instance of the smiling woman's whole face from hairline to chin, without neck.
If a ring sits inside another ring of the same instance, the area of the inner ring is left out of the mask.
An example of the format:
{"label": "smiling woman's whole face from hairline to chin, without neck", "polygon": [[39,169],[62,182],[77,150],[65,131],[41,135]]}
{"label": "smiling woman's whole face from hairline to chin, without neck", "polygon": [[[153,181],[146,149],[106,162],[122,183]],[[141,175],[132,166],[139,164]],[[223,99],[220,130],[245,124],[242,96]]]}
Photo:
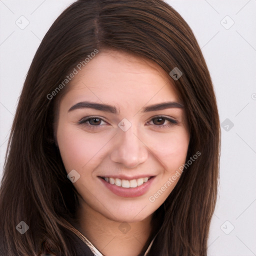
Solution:
{"label": "smiling woman's whole face from hairline to chin, without neck", "polygon": [[150,216],[177,183],[189,143],[166,73],[151,61],[104,51],[67,86],[56,140],[82,207],[115,221]]}

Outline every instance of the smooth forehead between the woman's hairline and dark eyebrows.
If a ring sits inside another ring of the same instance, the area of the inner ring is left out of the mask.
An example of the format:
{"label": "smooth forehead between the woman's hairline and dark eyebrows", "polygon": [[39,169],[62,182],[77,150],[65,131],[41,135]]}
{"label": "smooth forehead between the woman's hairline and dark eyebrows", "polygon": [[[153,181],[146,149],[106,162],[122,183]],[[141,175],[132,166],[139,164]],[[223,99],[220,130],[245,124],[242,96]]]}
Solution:
{"label": "smooth forehead between the woman's hairline and dark eyebrows", "polygon": [[153,61],[119,51],[93,57],[68,84],[69,105],[83,100],[115,105],[179,101],[166,72]]}

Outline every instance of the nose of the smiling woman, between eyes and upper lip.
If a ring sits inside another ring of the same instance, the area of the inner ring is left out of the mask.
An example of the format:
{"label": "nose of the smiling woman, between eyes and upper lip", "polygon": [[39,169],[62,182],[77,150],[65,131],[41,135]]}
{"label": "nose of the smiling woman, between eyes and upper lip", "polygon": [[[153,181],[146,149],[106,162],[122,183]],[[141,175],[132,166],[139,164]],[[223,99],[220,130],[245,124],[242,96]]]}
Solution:
{"label": "nose of the smiling woman, between eyes and upper lip", "polygon": [[118,141],[110,154],[112,161],[122,163],[126,168],[134,168],[148,157],[147,146],[133,131],[133,125],[126,131],[119,130]]}

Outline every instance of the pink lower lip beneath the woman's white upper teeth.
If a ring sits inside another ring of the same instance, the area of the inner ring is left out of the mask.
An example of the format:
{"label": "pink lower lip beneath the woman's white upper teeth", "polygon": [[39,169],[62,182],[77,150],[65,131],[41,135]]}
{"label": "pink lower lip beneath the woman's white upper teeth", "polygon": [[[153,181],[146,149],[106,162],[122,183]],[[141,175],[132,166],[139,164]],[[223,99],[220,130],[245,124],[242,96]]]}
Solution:
{"label": "pink lower lip beneath the woman's white upper teeth", "polygon": [[147,192],[149,186],[153,182],[154,177],[151,177],[142,185],[137,187],[122,187],[106,182],[103,178],[99,178],[101,182],[114,194],[122,197],[137,197]]}

